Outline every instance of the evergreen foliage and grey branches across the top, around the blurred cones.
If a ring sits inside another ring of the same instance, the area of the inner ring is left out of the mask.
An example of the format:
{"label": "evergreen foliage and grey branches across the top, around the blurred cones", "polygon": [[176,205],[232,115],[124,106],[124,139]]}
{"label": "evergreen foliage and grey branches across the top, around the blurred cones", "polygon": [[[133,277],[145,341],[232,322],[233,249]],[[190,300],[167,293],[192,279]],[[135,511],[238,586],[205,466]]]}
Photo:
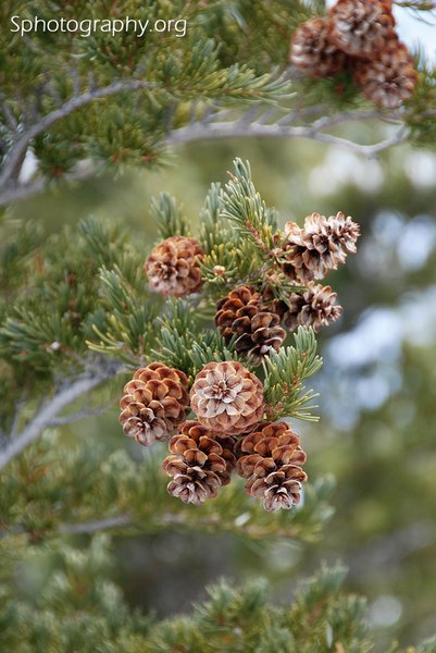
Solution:
{"label": "evergreen foliage and grey branches across the top, around the blurred cones", "polygon": [[[422,14],[434,9],[427,2],[409,5]],[[240,133],[238,107],[273,103],[278,114],[266,118],[267,125],[291,125],[296,131],[289,135],[322,139],[326,136],[323,128],[328,127],[325,113],[332,108],[337,113],[331,116],[333,125],[341,122],[341,112],[344,120],[352,120],[354,111],[364,119],[361,109],[369,109],[347,72],[308,79],[289,69],[291,36],[302,22],[325,13],[322,0],[299,0],[291,7],[285,0],[267,4],[261,0],[123,0],[116,5],[117,16],[167,25],[186,21],[183,37],[170,27],[164,33],[148,32],[142,38],[132,30],[115,35],[97,30],[86,38],[79,30],[50,34],[39,29],[25,38],[10,32],[12,16],[28,21],[37,16],[45,21],[116,17],[108,13],[104,0],[62,7],[45,0],[9,1],[0,12],[1,24],[7,26],[0,37],[2,205],[63,178],[82,178],[126,164],[162,164],[169,144],[197,138],[196,126],[207,125],[221,109],[236,107],[236,113],[227,116],[236,135]],[[404,124],[409,139],[428,143],[434,140],[435,71],[419,53],[416,63],[419,87],[404,110],[369,110],[366,118]],[[246,124],[249,120],[247,114]],[[311,128],[299,131],[304,126]],[[22,184],[20,173],[30,151],[37,175]]]}

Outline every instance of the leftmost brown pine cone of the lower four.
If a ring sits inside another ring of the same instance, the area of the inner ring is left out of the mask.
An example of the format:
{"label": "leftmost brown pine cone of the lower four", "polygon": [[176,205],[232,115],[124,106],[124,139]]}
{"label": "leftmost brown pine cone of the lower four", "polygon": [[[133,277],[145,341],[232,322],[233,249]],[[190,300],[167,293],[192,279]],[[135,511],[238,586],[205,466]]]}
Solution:
{"label": "leftmost brown pine cone of the lower four", "polygon": [[144,446],[169,440],[189,405],[187,386],[184,372],[162,362],[136,370],[120,402],[124,433]]}

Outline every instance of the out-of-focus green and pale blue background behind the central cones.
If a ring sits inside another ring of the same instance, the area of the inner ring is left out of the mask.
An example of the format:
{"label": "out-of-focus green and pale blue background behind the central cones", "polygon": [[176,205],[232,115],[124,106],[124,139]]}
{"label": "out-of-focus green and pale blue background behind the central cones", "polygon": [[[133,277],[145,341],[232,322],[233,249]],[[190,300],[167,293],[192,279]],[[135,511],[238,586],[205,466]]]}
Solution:
{"label": "out-of-focus green and pale blue background behind the central cones", "polygon": [[[361,130],[370,127],[356,124],[350,136],[358,139]],[[250,159],[259,192],[283,221],[342,210],[362,226],[358,255],[329,278],[345,311],[320,336],[321,422],[296,424],[312,482],[336,478],[336,513],[319,541],[299,544],[253,544],[237,529],[216,535],[176,525],[125,533],[114,540],[116,581],[132,606],[163,617],[188,611],[223,575],[261,575],[285,602],[296,576],[311,574],[320,559],[340,559],[349,567],[347,589],[369,599],[375,651],[387,651],[393,638],[411,644],[436,632],[436,153],[401,146],[369,160],[303,140],[197,143],[174,150],[163,170],[102,175],[16,204],[1,229],[37,217],[49,234],[94,213],[122,222],[146,258],[158,237],[151,197],[174,194],[196,223],[210,183],[225,181],[235,156]],[[59,435],[78,446],[95,441],[105,454],[132,452],[116,417],[113,407]],[[16,589],[36,596],[58,563],[46,556],[26,564]]]}

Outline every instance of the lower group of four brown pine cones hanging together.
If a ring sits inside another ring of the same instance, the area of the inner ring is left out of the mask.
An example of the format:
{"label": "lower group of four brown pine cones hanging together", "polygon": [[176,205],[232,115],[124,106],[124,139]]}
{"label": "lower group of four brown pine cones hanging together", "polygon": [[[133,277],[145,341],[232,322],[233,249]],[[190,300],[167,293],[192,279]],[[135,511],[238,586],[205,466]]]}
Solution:
{"label": "lower group of four brown pine cones hanging together", "polygon": [[[301,496],[306,454],[284,421],[263,421],[261,381],[240,362],[210,362],[188,394],[184,372],[153,362],[124,387],[120,422],[144,445],[170,440],[163,461],[170,494],[199,505],[216,496],[234,469],[266,510],[291,508]],[[189,407],[196,420],[186,420]],[[172,435],[176,430],[176,434]]]}

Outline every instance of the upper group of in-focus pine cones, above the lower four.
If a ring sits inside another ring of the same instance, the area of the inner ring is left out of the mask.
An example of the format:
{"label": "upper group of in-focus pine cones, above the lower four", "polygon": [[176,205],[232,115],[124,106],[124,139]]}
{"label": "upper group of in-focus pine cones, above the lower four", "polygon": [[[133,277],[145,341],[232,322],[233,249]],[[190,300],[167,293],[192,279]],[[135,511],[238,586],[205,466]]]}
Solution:
{"label": "upper group of in-focus pine cones, above the lower four", "polygon": [[[215,324],[226,342],[235,338],[235,348],[260,364],[272,349],[276,352],[286,330],[299,325],[315,332],[338,319],[341,307],[331,286],[316,281],[328,270],[345,263],[347,252],[356,252],[359,225],[342,212],[325,218],[308,215],[302,227],[287,222],[274,236],[277,246],[265,257],[271,261],[261,284],[247,280],[216,305]],[[150,287],[165,296],[186,297],[200,291],[201,245],[186,236],[171,236],[159,243],[145,263]],[[225,269],[217,271],[225,278]],[[277,299],[273,288],[281,280],[295,284],[295,291]]]}

